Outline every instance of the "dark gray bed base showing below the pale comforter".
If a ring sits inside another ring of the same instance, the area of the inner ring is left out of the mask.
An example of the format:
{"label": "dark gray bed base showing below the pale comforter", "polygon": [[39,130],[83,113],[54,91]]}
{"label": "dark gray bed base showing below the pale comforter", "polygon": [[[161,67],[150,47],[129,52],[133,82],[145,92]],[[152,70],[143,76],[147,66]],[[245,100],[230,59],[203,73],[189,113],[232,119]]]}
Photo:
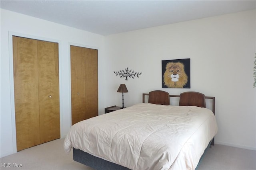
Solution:
{"label": "dark gray bed base showing below the pale comforter", "polygon": [[[196,169],[200,165],[202,158],[204,157],[206,151],[211,145],[211,142],[209,142],[209,145],[204,150],[203,155],[201,156],[198,165],[196,166]],[[102,158],[98,158],[96,156],[93,156],[91,154],[88,154],[80,149],[74,149],[73,148],[73,159],[76,162],[80,162],[86,166],[90,166],[91,168],[94,168],[95,170],[130,170],[124,166],[108,162]]]}

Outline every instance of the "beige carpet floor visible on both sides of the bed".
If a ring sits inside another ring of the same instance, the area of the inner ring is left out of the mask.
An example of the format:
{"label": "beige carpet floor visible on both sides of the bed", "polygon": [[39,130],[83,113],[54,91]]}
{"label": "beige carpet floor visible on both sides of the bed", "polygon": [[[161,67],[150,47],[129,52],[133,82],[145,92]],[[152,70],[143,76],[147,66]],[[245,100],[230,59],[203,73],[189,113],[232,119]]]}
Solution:
{"label": "beige carpet floor visible on both sides of the bed", "polygon": [[[57,139],[1,158],[1,170],[92,170],[66,154],[64,139]],[[255,150],[214,145],[208,149],[198,170],[255,170]],[[22,167],[14,167],[22,164]],[[4,167],[5,166],[5,167]],[[10,166],[10,167],[7,167]]]}

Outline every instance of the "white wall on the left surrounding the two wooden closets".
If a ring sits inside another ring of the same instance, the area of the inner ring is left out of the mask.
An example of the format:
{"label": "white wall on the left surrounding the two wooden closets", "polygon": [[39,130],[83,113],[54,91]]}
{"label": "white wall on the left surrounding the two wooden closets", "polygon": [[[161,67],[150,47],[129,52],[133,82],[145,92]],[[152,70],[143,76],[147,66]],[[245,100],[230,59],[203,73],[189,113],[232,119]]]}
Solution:
{"label": "white wall on the left surrounding the two wooden closets", "polygon": [[[59,43],[61,137],[71,127],[70,44],[98,49],[98,71],[105,69],[104,36],[1,9],[1,157],[16,152],[12,35]],[[104,79],[99,74],[98,83]],[[99,98],[99,108],[103,100]]]}

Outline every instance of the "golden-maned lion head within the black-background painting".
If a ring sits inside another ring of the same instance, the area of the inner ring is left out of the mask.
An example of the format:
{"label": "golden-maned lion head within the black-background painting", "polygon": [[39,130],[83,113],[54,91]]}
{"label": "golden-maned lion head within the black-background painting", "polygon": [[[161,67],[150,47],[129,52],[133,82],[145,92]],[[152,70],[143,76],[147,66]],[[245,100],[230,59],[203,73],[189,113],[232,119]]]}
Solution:
{"label": "golden-maned lion head within the black-background painting", "polygon": [[184,70],[184,64],[180,62],[169,62],[164,72],[164,85],[168,88],[183,88],[188,82],[188,76]]}

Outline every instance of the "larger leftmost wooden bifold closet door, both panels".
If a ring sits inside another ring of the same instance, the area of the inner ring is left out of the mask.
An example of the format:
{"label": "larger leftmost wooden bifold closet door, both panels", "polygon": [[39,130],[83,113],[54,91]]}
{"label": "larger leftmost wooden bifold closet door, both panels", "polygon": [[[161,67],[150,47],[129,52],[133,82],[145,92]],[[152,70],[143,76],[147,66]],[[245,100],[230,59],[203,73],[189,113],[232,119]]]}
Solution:
{"label": "larger leftmost wooden bifold closet door, both panels", "polygon": [[58,43],[13,36],[17,151],[60,138]]}

